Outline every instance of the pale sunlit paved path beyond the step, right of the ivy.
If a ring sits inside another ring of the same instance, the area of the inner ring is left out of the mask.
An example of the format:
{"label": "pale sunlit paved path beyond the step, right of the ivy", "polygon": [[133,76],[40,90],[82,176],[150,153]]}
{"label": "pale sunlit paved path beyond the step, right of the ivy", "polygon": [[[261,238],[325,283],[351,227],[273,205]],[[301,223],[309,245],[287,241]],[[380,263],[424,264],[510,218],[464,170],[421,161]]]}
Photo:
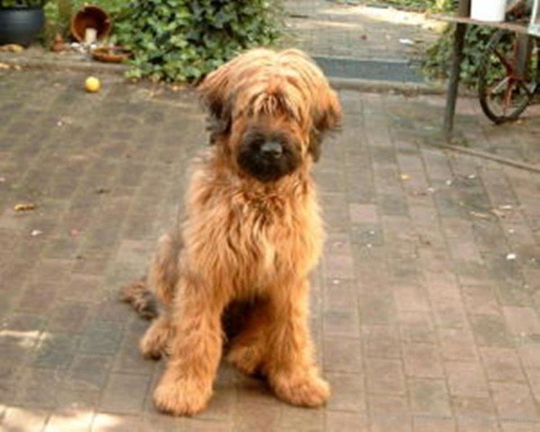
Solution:
{"label": "pale sunlit paved path beyond the step, right of the ivy", "polygon": [[[407,60],[437,40],[444,23],[423,14],[328,0],[288,0],[287,19],[294,44],[314,56]],[[401,43],[410,40],[412,43]]]}

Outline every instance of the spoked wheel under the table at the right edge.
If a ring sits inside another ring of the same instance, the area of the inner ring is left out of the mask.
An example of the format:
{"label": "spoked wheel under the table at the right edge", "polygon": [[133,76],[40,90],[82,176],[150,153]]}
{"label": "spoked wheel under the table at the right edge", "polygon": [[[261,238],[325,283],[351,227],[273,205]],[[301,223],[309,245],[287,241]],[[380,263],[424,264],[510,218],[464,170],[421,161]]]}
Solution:
{"label": "spoked wheel under the table at the right edge", "polygon": [[478,80],[482,111],[491,121],[516,120],[527,108],[536,91],[539,55],[533,37],[503,29],[493,33]]}

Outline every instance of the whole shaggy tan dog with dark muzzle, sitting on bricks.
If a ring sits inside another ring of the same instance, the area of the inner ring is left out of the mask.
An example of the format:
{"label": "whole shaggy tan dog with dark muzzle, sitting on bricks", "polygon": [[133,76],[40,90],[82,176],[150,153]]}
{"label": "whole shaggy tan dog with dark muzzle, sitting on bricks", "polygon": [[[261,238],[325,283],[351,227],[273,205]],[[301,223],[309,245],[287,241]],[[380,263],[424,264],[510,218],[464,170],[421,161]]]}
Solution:
{"label": "whole shaggy tan dog with dark muzzle, sitting on bricks", "polygon": [[175,415],[204,409],[225,339],[221,319],[245,302],[229,362],[263,374],[284,401],[320,406],[329,385],[307,320],[323,229],[310,170],[323,132],[340,120],[338,98],[296,49],[247,51],[199,90],[213,146],[193,165],[184,221],[159,240],[148,280],[123,293],[152,315],[148,285],[161,305],[140,343],[145,356],[169,356],[154,401]]}

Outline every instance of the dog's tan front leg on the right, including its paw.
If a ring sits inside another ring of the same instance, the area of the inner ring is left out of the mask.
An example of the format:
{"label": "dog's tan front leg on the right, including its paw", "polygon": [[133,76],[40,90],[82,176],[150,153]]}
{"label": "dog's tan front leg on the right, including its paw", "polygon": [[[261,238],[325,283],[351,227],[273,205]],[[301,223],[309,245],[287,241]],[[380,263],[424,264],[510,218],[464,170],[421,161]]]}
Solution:
{"label": "dog's tan front leg on the right, including its paw", "polygon": [[269,328],[265,373],[280,399],[317,407],[328,400],[330,391],[313,360],[308,289],[308,281],[302,280],[271,290],[275,320]]}

